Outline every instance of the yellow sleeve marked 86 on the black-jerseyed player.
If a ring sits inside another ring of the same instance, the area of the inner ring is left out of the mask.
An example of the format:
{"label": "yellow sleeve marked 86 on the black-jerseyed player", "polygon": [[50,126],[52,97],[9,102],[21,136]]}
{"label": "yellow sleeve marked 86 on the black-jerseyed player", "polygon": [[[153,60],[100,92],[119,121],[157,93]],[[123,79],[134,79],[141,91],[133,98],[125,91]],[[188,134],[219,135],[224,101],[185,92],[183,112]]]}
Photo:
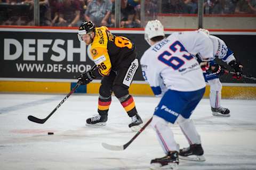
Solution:
{"label": "yellow sleeve marked 86 on the black-jerseyed player", "polygon": [[99,67],[99,73],[102,76],[108,76],[111,70],[111,62],[106,48],[95,47],[91,48],[93,61]]}

